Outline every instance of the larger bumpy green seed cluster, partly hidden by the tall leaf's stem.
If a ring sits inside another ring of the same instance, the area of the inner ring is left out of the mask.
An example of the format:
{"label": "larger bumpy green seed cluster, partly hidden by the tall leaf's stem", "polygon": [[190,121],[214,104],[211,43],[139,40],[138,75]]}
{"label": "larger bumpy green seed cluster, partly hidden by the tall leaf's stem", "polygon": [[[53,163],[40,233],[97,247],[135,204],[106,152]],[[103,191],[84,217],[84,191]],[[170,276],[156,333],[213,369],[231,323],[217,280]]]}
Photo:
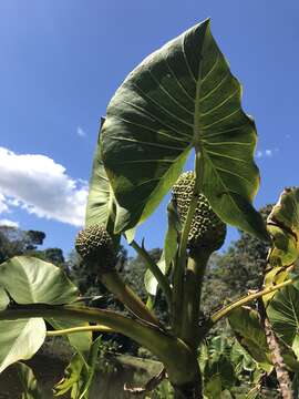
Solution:
{"label": "larger bumpy green seed cluster, partly hidden by the tall leaf's stem", "polygon": [[[173,186],[173,200],[181,222],[185,223],[195,184],[194,172],[183,173]],[[226,224],[212,209],[204,194],[199,194],[188,235],[188,248],[219,249],[226,236]]]}

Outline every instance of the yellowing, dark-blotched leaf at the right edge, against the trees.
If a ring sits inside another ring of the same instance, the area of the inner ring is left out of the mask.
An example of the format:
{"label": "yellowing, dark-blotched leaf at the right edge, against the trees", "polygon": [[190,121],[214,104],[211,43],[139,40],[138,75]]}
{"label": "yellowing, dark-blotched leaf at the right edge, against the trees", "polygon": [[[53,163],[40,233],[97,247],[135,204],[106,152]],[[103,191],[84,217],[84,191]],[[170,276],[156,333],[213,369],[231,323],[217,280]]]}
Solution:
{"label": "yellowing, dark-blotched leaf at the right edge, against the trees", "polygon": [[267,219],[274,247],[269,255],[272,266],[289,266],[299,256],[299,188],[286,188]]}

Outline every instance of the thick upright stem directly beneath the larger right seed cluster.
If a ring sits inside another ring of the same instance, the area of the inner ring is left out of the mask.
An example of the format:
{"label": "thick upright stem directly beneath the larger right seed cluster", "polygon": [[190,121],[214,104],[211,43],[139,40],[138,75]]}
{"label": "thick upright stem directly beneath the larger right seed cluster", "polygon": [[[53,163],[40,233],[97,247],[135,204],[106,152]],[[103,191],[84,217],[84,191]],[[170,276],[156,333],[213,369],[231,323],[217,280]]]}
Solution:
{"label": "thick upright stem directly beneath the larger right seed cluster", "polygon": [[194,350],[200,341],[199,309],[202,286],[210,253],[190,254],[184,282],[183,326],[181,338]]}

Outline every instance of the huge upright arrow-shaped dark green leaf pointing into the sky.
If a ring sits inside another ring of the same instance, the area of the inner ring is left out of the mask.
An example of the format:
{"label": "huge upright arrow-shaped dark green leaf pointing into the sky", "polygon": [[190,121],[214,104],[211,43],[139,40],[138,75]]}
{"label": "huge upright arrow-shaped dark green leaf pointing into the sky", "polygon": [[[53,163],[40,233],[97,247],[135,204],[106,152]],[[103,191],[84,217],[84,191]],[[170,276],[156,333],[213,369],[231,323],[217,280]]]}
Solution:
{"label": "huge upright arrow-shaped dark green leaf pointing into the sky", "polygon": [[241,89],[204,21],[147,57],[111,100],[102,127],[105,170],[122,206],[115,229],[145,221],[193,147],[200,188],[227,223],[267,237],[251,206],[259,185],[256,127]]}

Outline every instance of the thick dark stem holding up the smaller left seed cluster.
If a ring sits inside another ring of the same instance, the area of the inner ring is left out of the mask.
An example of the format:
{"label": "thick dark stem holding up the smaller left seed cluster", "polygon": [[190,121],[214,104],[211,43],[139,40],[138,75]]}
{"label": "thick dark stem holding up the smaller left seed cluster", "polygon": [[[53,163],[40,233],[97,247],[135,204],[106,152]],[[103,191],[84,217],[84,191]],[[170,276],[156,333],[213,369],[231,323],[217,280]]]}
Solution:
{"label": "thick dark stem holding up the smaller left seed cluster", "polygon": [[100,274],[99,278],[135,316],[159,326],[158,319],[147,309],[141,298],[124,283],[116,270]]}

